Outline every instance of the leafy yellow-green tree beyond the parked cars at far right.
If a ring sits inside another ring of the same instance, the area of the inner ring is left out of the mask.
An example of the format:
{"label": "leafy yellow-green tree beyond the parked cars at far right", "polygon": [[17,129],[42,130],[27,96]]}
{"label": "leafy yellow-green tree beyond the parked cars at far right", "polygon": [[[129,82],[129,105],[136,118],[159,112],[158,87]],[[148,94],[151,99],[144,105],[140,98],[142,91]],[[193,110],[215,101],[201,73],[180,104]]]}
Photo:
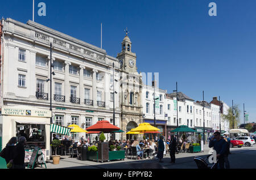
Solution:
{"label": "leafy yellow-green tree beyond the parked cars at far right", "polygon": [[[234,105],[234,128],[237,128],[238,123],[240,122],[240,113],[241,110],[238,108],[238,105]],[[222,114],[222,118],[224,119],[224,121],[228,121],[229,122],[229,128],[232,129],[233,128],[233,117],[232,117],[232,108],[229,108],[228,110],[228,114]]]}

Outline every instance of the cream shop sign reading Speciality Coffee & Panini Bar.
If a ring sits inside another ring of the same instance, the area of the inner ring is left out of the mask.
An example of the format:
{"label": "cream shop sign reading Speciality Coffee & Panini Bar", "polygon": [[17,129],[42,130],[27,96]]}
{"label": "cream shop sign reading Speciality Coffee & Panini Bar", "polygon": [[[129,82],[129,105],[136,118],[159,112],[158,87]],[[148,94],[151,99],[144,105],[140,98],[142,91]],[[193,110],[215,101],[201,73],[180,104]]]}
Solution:
{"label": "cream shop sign reading Speciality Coffee & Panini Bar", "polygon": [[49,110],[31,110],[31,109],[19,109],[19,108],[2,108],[3,115],[17,115],[17,116],[31,116],[31,117],[51,117],[51,111]]}

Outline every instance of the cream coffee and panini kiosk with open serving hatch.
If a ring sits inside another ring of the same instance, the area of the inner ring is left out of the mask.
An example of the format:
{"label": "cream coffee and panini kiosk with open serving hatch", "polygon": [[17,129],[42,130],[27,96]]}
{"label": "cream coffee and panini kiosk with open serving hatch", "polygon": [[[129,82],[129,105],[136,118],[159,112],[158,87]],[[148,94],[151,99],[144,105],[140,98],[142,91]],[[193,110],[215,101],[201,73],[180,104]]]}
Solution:
{"label": "cream coffee and panini kiosk with open serving hatch", "polygon": [[13,136],[24,136],[27,139],[26,152],[31,152],[37,146],[42,150],[45,160],[49,160],[51,114],[49,110],[30,106],[3,107],[2,144],[7,144]]}

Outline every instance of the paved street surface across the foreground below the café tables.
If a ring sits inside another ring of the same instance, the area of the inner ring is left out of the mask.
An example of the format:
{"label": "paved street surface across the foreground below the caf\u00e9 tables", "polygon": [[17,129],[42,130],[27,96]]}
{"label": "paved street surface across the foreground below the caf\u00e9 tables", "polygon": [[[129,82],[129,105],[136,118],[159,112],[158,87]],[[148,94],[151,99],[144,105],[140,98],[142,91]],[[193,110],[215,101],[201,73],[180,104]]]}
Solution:
{"label": "paved street surface across the foreground below the caf\u00e9 tables", "polygon": [[[200,153],[179,153],[176,154],[176,163],[170,164],[170,155],[164,156],[162,163],[156,159],[144,160],[116,160],[110,162],[81,161],[78,158],[61,156],[60,164],[53,165],[52,160],[47,161],[47,169],[197,169],[193,157],[206,157],[209,154],[208,144],[204,146],[204,152]],[[256,168],[256,145],[253,147],[230,148],[229,155],[231,168]],[[36,169],[42,169],[37,167]],[[44,169],[44,168],[43,168]]]}

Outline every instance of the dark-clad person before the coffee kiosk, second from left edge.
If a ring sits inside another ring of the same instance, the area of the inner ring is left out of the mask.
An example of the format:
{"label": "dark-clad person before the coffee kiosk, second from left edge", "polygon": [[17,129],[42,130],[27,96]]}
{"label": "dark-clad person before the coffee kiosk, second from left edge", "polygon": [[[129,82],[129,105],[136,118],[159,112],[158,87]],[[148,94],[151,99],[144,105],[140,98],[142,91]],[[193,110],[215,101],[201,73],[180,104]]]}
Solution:
{"label": "dark-clad person before the coffee kiosk, second from left edge", "polygon": [[25,169],[24,158],[25,158],[25,149],[24,144],[26,143],[26,138],[24,136],[19,137],[18,144],[16,145],[17,155],[13,160],[14,169]]}

